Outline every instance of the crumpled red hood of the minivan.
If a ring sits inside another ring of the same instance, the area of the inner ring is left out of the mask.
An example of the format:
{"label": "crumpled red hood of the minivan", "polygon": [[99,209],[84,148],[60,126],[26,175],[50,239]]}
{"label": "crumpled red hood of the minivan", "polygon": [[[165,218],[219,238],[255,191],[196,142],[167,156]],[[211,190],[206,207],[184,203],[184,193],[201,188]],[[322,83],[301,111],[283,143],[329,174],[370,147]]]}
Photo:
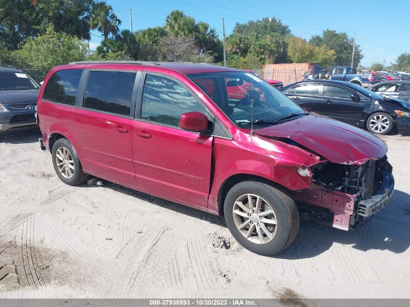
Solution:
{"label": "crumpled red hood of the minivan", "polygon": [[267,138],[289,138],[334,163],[360,165],[387,153],[378,137],[315,113],[255,132]]}

